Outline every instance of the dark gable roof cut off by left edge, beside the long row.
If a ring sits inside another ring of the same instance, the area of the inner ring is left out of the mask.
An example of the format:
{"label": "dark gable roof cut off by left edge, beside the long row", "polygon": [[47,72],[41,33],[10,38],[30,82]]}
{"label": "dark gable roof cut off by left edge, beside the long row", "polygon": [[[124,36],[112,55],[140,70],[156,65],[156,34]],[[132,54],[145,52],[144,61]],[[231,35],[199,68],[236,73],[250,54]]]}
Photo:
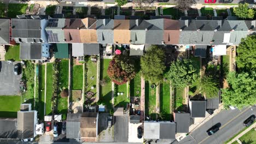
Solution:
{"label": "dark gable roof cut off by left edge, beside the long row", "polygon": [[0,44],[10,43],[10,20],[0,19]]}

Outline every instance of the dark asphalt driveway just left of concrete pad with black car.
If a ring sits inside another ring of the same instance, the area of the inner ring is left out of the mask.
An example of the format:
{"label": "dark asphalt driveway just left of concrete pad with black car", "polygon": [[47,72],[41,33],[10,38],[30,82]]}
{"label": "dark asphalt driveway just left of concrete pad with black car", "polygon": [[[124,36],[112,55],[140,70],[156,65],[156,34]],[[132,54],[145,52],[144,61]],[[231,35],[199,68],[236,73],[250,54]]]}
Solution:
{"label": "dark asphalt driveway just left of concrete pad with black car", "polygon": [[114,142],[128,142],[129,116],[114,116]]}

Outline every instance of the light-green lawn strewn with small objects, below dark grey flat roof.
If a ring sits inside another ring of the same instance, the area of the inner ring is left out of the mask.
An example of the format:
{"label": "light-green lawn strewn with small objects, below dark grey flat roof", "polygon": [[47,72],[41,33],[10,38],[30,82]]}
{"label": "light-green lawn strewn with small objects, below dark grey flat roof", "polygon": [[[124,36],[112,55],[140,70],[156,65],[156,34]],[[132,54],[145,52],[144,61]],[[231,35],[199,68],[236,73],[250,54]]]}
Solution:
{"label": "light-green lawn strewn with small objects, below dark grey flat roof", "polygon": [[[91,58],[89,58],[91,59]],[[87,91],[91,91],[94,92],[96,94],[97,89],[96,89],[96,85],[97,85],[97,62],[92,62],[91,60],[89,60],[86,63],[86,68],[87,68]],[[92,78],[93,77],[93,78]],[[94,89],[91,89],[91,87],[94,87]]]}

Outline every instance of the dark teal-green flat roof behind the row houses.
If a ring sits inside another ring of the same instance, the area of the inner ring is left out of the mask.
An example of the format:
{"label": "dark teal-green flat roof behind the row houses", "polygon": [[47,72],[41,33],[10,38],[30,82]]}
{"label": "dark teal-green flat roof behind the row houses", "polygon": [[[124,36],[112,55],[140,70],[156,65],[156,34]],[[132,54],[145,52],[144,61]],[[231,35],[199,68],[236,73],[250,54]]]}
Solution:
{"label": "dark teal-green flat roof behind the row houses", "polygon": [[55,58],[68,58],[68,44],[56,44]]}

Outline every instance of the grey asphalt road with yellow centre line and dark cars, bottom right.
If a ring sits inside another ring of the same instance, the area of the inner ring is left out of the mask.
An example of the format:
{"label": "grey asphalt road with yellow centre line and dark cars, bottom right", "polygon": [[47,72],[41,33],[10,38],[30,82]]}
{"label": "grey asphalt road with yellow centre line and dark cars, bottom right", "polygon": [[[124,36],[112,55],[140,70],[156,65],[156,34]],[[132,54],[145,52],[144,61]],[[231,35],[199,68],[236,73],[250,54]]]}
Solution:
{"label": "grey asphalt road with yellow centre line and dark cars, bottom right", "polygon": [[[182,144],[219,144],[223,143],[230,137],[240,131],[243,126],[243,121],[251,115],[256,115],[256,107],[246,107],[242,110],[223,110],[218,115],[211,118],[208,122],[203,124],[200,128],[196,129],[189,136],[185,137],[180,142]],[[212,135],[208,136],[206,130],[211,128],[212,125],[220,123],[222,126],[220,130]]]}

